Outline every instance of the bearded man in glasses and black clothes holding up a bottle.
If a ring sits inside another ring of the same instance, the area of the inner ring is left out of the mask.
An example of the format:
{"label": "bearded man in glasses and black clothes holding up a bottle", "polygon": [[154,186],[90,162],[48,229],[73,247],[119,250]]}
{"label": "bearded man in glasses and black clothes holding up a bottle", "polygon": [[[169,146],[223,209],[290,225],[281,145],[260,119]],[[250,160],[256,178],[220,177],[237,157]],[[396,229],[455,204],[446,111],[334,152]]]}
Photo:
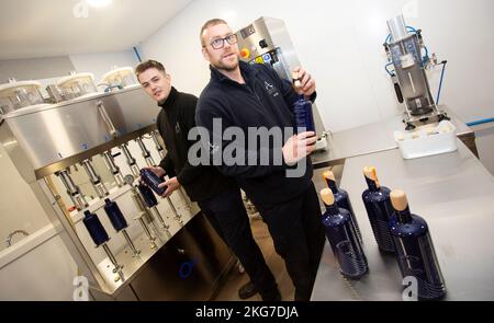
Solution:
{"label": "bearded man in glasses and black clothes holding up a bottle", "polygon": [[[274,247],[284,258],[295,286],[294,299],[310,300],[324,244],[318,197],[311,180],[313,169],[306,158],[315,149],[315,134],[283,138],[283,142],[269,143],[258,151],[252,151],[252,145],[246,141],[235,146],[246,161],[233,165],[225,162],[223,154],[218,155],[223,152],[220,148],[236,145],[236,140],[224,140],[226,128],[240,128],[245,138],[251,127],[281,129],[284,134],[284,129],[294,126],[292,106],[297,93],[272,68],[239,61],[237,36],[225,21],[206,22],[200,38],[203,56],[211,65],[211,80],[200,95],[195,116],[198,125],[209,134],[207,139],[203,138],[209,142],[203,146],[210,148],[212,160],[222,161],[220,165],[215,163],[217,169],[237,180],[268,224]],[[295,72],[301,94],[315,100],[314,79],[302,68]],[[213,127],[218,120],[222,129]],[[277,154],[282,155],[279,164],[273,162]],[[252,155],[255,164],[250,162]],[[263,158],[269,164],[259,163]],[[297,177],[287,176],[295,164],[302,164],[304,171]]]}

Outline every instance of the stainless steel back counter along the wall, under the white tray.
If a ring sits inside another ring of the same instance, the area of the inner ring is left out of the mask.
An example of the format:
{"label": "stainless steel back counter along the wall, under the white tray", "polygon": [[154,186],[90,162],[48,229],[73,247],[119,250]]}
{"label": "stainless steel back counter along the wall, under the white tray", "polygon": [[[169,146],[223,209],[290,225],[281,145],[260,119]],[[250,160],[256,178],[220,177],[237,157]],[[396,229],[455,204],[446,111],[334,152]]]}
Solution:
{"label": "stainless steel back counter along the wall, under the white tray", "polygon": [[[451,117],[451,123],[458,129],[458,136],[464,136],[467,134],[472,134],[473,136],[473,130],[461,122],[454,113],[447,106],[440,107]],[[402,119],[403,117],[401,115],[393,116],[329,135],[327,138],[327,150],[318,151],[311,155],[314,168],[343,164],[347,158],[397,148],[393,132],[396,130],[405,130],[405,125]]]}

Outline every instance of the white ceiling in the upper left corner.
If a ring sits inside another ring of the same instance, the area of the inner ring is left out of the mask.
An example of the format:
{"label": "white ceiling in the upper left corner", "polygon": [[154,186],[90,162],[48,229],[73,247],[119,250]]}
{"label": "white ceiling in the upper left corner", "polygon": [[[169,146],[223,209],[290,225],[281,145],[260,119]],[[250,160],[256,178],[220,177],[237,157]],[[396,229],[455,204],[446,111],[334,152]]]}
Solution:
{"label": "white ceiling in the upper left corner", "polygon": [[83,1],[1,0],[0,59],[130,49],[192,0],[113,0],[77,18]]}

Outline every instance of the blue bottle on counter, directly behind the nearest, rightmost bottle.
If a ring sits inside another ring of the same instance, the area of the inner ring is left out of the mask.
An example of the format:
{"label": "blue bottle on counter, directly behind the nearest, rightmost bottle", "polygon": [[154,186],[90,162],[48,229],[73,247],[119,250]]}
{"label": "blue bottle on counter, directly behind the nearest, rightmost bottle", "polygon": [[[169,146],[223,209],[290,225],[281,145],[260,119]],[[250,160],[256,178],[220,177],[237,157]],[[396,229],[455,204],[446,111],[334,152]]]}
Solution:
{"label": "blue bottle on counter, directly behind the nearest, rightmost bottle", "polygon": [[379,184],[375,168],[366,168],[363,173],[369,189],[362,193],[362,199],[375,242],[381,251],[394,253],[394,242],[388,228],[390,217],[393,214],[390,200],[391,191]]}

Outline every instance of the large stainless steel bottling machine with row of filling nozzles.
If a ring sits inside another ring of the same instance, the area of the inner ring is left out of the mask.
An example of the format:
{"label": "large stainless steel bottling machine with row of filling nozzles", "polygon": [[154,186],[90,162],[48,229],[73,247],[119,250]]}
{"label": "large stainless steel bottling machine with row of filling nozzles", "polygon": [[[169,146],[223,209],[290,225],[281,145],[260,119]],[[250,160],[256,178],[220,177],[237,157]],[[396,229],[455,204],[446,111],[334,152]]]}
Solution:
{"label": "large stainless steel bottling machine with row of filling nozzles", "polygon": [[[71,94],[52,104],[36,82],[0,86],[1,143],[94,299],[209,299],[234,264],[228,249],[182,192],[158,201],[136,180],[165,155],[160,107],[138,84],[99,93],[82,77],[48,86]],[[103,209],[116,204],[122,214],[110,223]]]}

